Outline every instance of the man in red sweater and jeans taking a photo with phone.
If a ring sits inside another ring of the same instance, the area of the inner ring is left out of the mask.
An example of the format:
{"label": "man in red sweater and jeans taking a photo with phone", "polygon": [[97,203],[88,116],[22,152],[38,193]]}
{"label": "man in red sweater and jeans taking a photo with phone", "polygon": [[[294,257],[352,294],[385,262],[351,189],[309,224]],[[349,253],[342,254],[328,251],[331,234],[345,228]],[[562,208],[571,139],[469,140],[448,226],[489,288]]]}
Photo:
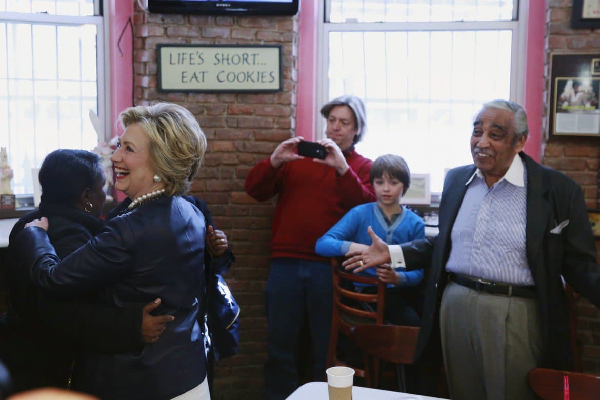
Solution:
{"label": "man in red sweater and jeans taking a photo with phone", "polygon": [[298,155],[302,137],[284,140],[246,178],[256,200],[278,194],[271,233],[271,268],[266,282],[268,359],[266,398],[285,399],[298,387],[298,343],[306,313],[313,344],[314,380],[325,378],[332,314],[329,258],[315,254],[319,237],[347,211],[375,201],[369,172],[373,161],[354,150],[366,131],[365,106],[341,96],[321,109],[327,119],[325,160]]}

